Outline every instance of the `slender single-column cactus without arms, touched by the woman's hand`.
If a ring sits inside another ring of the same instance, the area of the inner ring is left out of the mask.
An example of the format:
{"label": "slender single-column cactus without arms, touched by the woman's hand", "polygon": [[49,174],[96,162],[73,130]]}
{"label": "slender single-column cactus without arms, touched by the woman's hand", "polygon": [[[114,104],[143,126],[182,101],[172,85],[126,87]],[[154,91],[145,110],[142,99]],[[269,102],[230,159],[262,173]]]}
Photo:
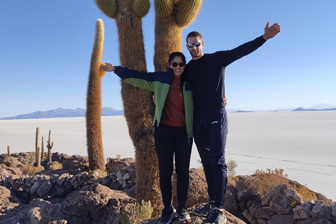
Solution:
{"label": "slender single-column cactus without arms, touched by the woman's hand", "polygon": [[102,140],[102,77],[106,72],[99,69],[102,63],[103,44],[104,23],[99,19],[96,22],[86,98],[87,156],[91,170],[106,169]]}

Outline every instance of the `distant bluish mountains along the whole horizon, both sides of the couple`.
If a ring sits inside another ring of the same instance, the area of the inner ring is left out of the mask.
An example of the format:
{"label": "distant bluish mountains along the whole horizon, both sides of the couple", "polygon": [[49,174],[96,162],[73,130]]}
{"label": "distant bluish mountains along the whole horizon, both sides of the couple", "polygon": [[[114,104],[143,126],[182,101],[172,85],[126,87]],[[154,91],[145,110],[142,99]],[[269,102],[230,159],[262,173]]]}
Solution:
{"label": "distant bluish mountains along the whole horizon, both sides of the couple", "polygon": [[[241,110],[241,109],[227,109],[227,111],[235,113],[243,112],[266,112],[267,110]],[[296,109],[275,109],[268,111],[336,111],[336,105],[332,104],[316,104],[309,107],[300,106]],[[35,119],[35,118],[72,118],[72,117],[85,117],[86,109],[62,109],[58,108],[49,111],[36,111],[34,113],[20,114],[10,118],[0,118],[0,120],[15,120],[15,119]],[[124,115],[124,111],[118,111],[111,107],[102,108],[102,116],[120,116]]]}

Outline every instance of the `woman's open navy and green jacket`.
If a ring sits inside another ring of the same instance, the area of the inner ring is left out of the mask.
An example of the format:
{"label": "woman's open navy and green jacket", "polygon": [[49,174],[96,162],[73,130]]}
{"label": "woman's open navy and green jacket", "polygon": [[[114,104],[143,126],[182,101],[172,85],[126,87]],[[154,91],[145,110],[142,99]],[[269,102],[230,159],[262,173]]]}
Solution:
{"label": "woman's open navy and green jacket", "polygon": [[[153,118],[153,126],[159,126],[162,119],[163,106],[167,94],[170,90],[170,85],[173,83],[174,72],[168,69],[167,72],[144,72],[129,69],[125,66],[116,66],[114,70],[121,79],[136,87],[154,92],[156,98],[155,114]],[[183,100],[186,114],[186,129],[188,139],[193,137],[193,92],[188,83],[183,82]]]}

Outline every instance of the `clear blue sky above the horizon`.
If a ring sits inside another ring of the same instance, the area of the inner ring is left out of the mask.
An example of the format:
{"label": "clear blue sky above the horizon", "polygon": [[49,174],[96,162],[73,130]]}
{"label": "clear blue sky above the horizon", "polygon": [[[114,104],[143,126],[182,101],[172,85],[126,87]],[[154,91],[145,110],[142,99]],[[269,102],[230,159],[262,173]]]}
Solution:
{"label": "clear blue sky above the horizon", "polygon": [[[336,1],[204,0],[183,29],[200,31],[204,52],[230,50],[263,34],[267,21],[281,32],[225,73],[228,109],[336,105]],[[94,0],[0,1],[0,118],[49,109],[85,108],[94,25],[104,21],[104,62],[119,64],[115,20]],[[153,71],[154,12],[143,19],[148,71]],[[165,44],[165,43],[162,43]],[[183,52],[191,59],[183,42]],[[119,78],[104,76],[103,106],[123,109]]]}

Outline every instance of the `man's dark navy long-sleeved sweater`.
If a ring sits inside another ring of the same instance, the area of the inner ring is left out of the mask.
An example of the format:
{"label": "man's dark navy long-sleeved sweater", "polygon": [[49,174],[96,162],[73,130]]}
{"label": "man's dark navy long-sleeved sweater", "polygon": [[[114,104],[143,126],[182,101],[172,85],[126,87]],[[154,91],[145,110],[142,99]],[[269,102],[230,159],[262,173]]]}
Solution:
{"label": "man's dark navy long-sleeved sweater", "polygon": [[200,59],[190,60],[184,73],[193,88],[194,110],[205,111],[225,106],[225,67],[258,49],[263,43],[265,39],[260,36],[235,49],[204,54]]}

